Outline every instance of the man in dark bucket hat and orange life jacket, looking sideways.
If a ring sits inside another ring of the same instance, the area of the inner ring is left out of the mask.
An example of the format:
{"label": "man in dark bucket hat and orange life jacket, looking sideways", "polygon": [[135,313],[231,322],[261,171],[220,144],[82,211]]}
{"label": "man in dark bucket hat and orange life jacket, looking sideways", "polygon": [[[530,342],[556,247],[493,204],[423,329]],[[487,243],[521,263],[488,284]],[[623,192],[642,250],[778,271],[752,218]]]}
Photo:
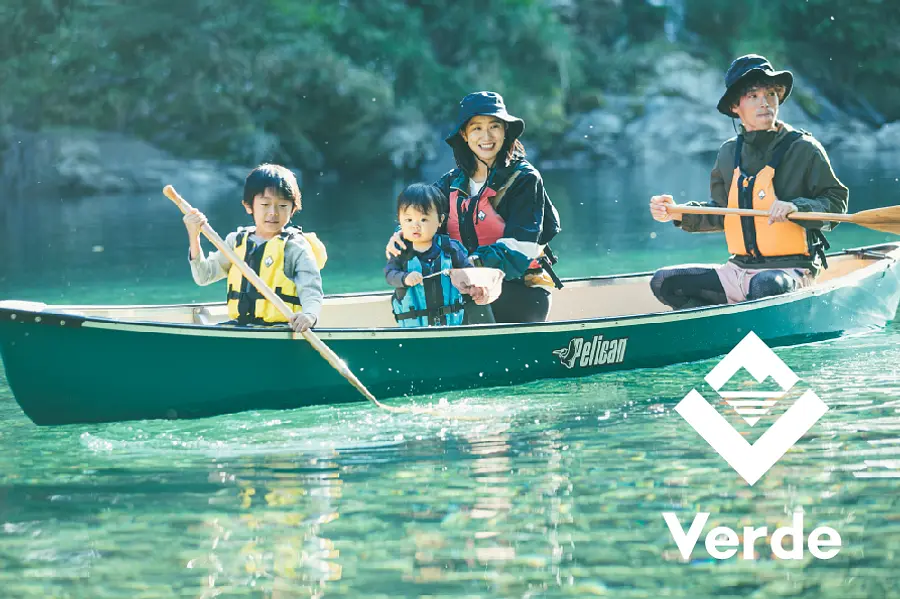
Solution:
{"label": "man in dark bucket hat and orange life jacket, looking sideways", "polygon": [[849,192],[834,174],[822,145],[806,131],[778,120],[793,86],[748,54],[725,73],[718,110],[740,119],[737,137],[719,148],[710,176],[711,201],[688,205],[764,210],[765,217],[674,214],[671,195],[650,198],[650,214],[689,233],[725,231],[731,259],[724,265],[682,265],[657,271],[650,282],[664,304],[678,310],[733,304],[811,285],[824,267],[822,231],[836,223],[788,219],[793,212],[846,213]]}

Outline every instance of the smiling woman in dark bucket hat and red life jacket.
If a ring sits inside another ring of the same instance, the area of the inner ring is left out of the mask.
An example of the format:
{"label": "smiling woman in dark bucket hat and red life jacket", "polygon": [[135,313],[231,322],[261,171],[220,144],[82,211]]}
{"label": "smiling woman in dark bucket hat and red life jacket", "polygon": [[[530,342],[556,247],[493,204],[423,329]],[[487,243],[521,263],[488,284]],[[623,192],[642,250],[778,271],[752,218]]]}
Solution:
{"label": "smiling woman in dark bucket hat and red life jacket", "polygon": [[[471,264],[504,272],[502,294],[491,304],[497,322],[543,322],[550,289],[561,286],[547,247],[560,225],[541,174],[525,160],[519,141],[525,121],[509,114],[495,92],[469,94],[459,106],[445,140],[456,168],[435,183],[448,198],[444,228],[465,246]],[[405,247],[395,233],[388,258]]]}

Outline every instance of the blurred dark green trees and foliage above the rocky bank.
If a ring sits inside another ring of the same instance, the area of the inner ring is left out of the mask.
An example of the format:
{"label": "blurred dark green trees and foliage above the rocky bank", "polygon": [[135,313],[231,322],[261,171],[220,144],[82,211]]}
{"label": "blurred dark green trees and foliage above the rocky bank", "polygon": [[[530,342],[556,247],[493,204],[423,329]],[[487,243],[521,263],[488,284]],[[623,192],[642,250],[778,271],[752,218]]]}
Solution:
{"label": "blurred dark green trees and foliage above the rocky bank", "polygon": [[384,166],[392,126],[449,124],[485,88],[551,148],[677,47],[723,69],[765,53],[855,116],[900,119],[896,0],[5,0],[0,27],[5,130],[116,131],[241,163]]}

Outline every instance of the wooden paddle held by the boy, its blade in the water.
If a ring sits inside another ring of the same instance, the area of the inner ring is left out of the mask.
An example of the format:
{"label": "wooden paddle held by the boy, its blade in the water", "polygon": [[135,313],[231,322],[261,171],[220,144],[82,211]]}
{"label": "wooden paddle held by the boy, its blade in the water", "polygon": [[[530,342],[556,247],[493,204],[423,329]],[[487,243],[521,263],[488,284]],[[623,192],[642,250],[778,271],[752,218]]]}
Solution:
{"label": "wooden paddle held by the boy, its blade in the water", "polygon": [[[190,210],[192,210],[192,207],[190,204],[188,204],[187,200],[185,200],[183,197],[181,197],[178,194],[178,192],[175,191],[175,188],[172,187],[171,185],[166,185],[163,188],[163,195],[165,195],[167,198],[169,198],[170,200],[175,202],[175,205],[178,206],[178,208],[183,213],[187,214]],[[231,263],[241,271],[241,274],[243,274],[244,277],[248,281],[250,281],[250,284],[253,285],[254,287],[256,287],[257,291],[259,291],[263,295],[263,297],[265,297],[267,300],[272,302],[272,305],[274,305],[275,308],[278,309],[278,311],[281,312],[281,314],[285,318],[290,320],[291,315],[293,314],[293,311],[290,308],[288,308],[287,304],[284,303],[284,300],[282,300],[280,297],[278,297],[278,295],[276,295],[275,292],[272,291],[272,289],[268,285],[266,285],[266,283],[262,279],[259,278],[259,275],[257,275],[253,271],[253,269],[247,265],[246,262],[241,260],[238,257],[238,255],[234,253],[234,250],[232,250],[230,247],[228,247],[225,244],[225,242],[222,240],[222,238],[219,237],[219,234],[216,233],[215,230],[211,226],[209,226],[208,223],[203,225],[203,228],[201,229],[201,231],[206,236],[206,238],[209,239],[210,242],[212,242],[212,244],[214,246],[216,246],[216,249],[219,250],[220,252],[222,252],[223,254],[225,254],[225,256],[227,256],[228,259],[231,261]],[[295,339],[297,338],[297,335],[298,335],[297,333],[294,333]],[[321,355],[323,358],[325,358],[325,360],[331,365],[332,368],[337,370],[341,376],[343,376],[345,379],[347,379],[350,382],[351,385],[356,387],[356,390],[359,391],[363,395],[363,397],[365,397],[366,399],[371,401],[373,404],[375,404],[379,408],[381,408],[383,410],[387,410],[389,412],[396,412],[396,413],[423,413],[423,414],[434,414],[437,416],[444,416],[444,414],[441,414],[440,412],[435,412],[435,411],[424,409],[424,408],[409,409],[409,408],[388,406],[388,405],[381,403],[380,401],[375,399],[375,396],[372,395],[372,393],[370,393],[368,389],[366,389],[365,385],[363,385],[358,378],[356,378],[356,375],[353,374],[353,372],[347,367],[347,364],[344,363],[344,361],[341,360],[337,356],[337,354],[335,354],[333,351],[331,351],[331,348],[328,347],[327,345],[325,345],[324,341],[319,339],[318,335],[316,335],[314,332],[312,332],[312,330],[306,330],[303,333],[301,333],[301,335],[303,336],[304,339],[306,339],[309,342],[310,345],[312,345],[313,349],[315,349],[317,352],[319,352],[319,355]],[[450,417],[460,418],[459,416],[450,416]]]}

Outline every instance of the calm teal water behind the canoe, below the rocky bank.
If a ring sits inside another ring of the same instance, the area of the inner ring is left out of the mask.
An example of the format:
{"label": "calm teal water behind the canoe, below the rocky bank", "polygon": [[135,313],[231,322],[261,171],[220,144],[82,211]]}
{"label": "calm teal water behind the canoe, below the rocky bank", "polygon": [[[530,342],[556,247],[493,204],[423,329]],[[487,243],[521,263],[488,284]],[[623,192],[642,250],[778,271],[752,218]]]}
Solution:
{"label": "calm teal water behind the canoe, below the rocky bank", "polygon": [[[851,187],[851,209],[893,204],[898,172],[877,165],[836,169]],[[688,235],[647,214],[653,193],[704,199],[709,167],[673,162],[664,168],[549,171],[546,186],[563,221],[553,242],[564,276],[651,270],[677,261],[721,261],[718,235]],[[304,184],[297,217],[329,248],[326,291],[384,288],[383,248],[393,230],[394,198],[405,181]],[[246,224],[239,192],[188,198],[224,234]],[[215,301],[216,286],[193,284],[180,213],[162,194],[67,199],[8,198],[0,203],[0,287],[4,296],[50,302],[154,303]],[[842,226],[834,247],[877,243],[884,234]]]}

